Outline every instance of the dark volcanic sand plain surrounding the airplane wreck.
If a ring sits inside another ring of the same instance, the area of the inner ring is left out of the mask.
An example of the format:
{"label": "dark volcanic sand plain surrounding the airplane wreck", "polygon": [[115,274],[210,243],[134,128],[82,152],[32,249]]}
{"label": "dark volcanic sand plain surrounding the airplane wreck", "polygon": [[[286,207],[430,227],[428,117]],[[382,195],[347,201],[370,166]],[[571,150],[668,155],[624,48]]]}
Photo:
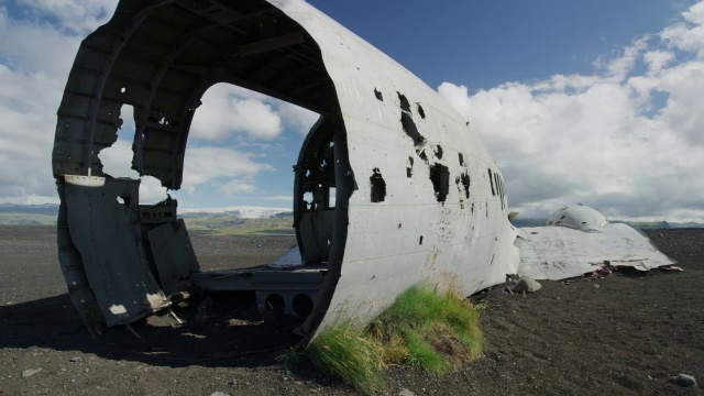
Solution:
{"label": "dark volcanic sand plain surrounding the airplane wreck", "polygon": [[[647,233],[685,271],[542,282],[526,296],[495,287],[474,297],[485,356],[447,376],[392,367],[389,394],[702,394],[668,378],[704,382],[704,230]],[[66,295],[55,238],[52,227],[0,227],[0,395],[356,394],[278,361],[280,346],[297,341],[295,323],[263,321],[250,295],[210,296],[205,323],[195,320],[205,296],[195,296],[174,308],[184,324],[153,316],[133,326],[142,340],[123,328],[90,338]],[[204,270],[263,264],[295,243],[193,239]]]}

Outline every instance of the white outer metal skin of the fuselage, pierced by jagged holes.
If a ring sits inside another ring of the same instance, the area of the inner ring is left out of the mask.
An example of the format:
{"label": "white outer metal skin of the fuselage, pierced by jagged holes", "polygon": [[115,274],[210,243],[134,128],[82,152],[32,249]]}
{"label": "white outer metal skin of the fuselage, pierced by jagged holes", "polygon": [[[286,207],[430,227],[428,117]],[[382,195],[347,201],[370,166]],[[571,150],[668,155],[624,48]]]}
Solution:
{"label": "white outer metal skin of the fuselage, pierced by jagged holes", "polygon": [[[459,286],[470,295],[515,273],[515,231],[505,201],[497,191],[492,194],[497,187],[487,173],[501,170],[466,120],[407,69],[312,7],[271,2],[320,46],[338,92],[359,187],[350,197],[342,272],[322,327],[340,316],[365,322],[417,283]],[[426,160],[418,154],[418,139],[405,132],[404,111],[422,136]],[[406,170],[409,157],[411,177]],[[443,202],[430,178],[436,165],[449,170]],[[374,168],[386,183],[382,202],[370,200]],[[463,173],[471,179],[470,198],[454,183]]]}

